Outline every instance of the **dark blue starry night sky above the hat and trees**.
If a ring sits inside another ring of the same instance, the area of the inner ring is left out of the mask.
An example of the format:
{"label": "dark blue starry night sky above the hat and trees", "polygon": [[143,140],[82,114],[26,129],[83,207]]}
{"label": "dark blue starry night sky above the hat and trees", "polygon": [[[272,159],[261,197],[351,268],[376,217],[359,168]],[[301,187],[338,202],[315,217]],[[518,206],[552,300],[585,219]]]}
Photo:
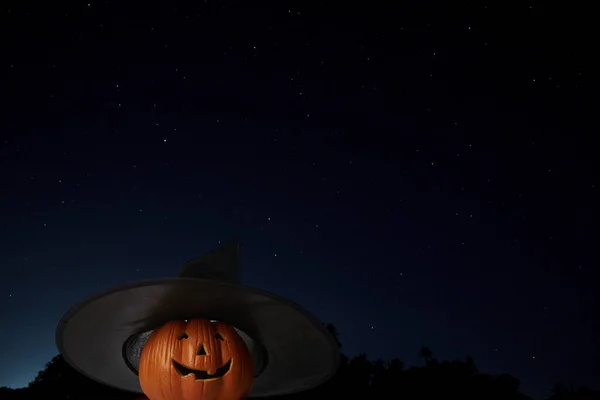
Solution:
{"label": "dark blue starry night sky above the hat and trees", "polygon": [[3,1],[0,386],[76,301],[240,236],[349,355],[593,387],[593,13],[392,3]]}

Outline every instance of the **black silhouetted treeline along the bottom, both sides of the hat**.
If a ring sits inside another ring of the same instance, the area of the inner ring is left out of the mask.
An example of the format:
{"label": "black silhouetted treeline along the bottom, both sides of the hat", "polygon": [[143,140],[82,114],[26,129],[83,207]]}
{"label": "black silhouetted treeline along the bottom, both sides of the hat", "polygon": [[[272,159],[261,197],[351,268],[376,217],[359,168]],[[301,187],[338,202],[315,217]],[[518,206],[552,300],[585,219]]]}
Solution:
{"label": "black silhouetted treeline along the bottom, both sides of the hat", "polygon": [[[338,344],[337,331],[329,330]],[[341,347],[341,345],[340,345]],[[340,368],[329,382],[310,391],[271,398],[304,400],[319,396],[328,398],[431,400],[529,400],[519,392],[518,379],[501,374],[492,376],[477,370],[472,358],[438,361],[432,351],[423,347],[419,355],[423,365],[405,368],[402,361],[371,361],[364,354],[353,358],[342,355]],[[557,384],[548,390],[548,400],[600,400],[590,389],[572,389]],[[37,377],[22,389],[0,387],[0,400],[136,400],[139,395],[122,392],[96,383],[71,368],[61,356],[54,357]]]}

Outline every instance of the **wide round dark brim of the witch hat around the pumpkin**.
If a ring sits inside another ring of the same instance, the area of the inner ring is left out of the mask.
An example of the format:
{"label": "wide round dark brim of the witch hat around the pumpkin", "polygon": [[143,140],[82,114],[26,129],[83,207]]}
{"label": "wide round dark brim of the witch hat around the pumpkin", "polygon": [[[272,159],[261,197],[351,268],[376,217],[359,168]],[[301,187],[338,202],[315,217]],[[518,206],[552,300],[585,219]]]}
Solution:
{"label": "wide round dark brim of the witch hat around the pumpkin", "polygon": [[335,373],[339,348],[326,327],[294,302],[247,286],[206,279],[136,282],[91,296],[60,320],[56,345],[88,377],[141,393],[123,354],[132,335],[174,319],[220,320],[242,330],[267,352],[251,397],[276,396],[318,386]]}

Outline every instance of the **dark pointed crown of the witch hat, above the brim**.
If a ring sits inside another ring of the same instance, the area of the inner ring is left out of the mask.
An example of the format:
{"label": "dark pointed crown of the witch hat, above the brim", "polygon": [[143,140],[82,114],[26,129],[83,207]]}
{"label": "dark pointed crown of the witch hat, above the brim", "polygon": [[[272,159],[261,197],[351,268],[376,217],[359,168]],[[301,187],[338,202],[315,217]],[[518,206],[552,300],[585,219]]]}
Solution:
{"label": "dark pointed crown of the witch hat, above the brim", "polygon": [[232,239],[185,263],[181,267],[178,277],[239,283],[241,279],[240,247],[240,240]]}

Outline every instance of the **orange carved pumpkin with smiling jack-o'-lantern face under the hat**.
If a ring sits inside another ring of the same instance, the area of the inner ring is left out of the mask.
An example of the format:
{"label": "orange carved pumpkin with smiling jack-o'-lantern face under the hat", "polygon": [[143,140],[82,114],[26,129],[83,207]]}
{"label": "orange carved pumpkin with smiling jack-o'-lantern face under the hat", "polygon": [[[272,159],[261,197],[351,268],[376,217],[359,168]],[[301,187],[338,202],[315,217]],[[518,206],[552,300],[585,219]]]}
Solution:
{"label": "orange carved pumpkin with smiling jack-o'-lantern face under the hat", "polygon": [[150,400],[240,400],[252,389],[254,361],[230,325],[171,321],[148,338],[138,373]]}

